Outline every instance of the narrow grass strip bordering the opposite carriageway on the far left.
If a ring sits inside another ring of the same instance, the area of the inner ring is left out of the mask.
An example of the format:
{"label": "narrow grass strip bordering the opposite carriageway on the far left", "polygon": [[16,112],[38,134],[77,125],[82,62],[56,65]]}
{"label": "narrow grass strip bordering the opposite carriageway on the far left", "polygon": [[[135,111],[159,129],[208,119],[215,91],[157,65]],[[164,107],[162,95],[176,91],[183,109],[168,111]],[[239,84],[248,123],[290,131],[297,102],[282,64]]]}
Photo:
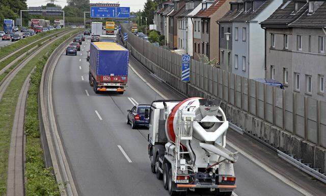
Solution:
{"label": "narrow grass strip bordering the opposite carriageway on the far left", "polygon": [[18,48],[20,48],[20,47],[22,47],[24,45],[27,45],[29,43],[32,43],[33,41],[40,40],[40,39],[42,39],[42,38],[44,38],[44,37],[46,37],[48,35],[63,32],[65,30],[66,29],[59,29],[59,30],[52,30],[52,31],[47,31],[47,32],[43,32],[43,33],[38,33],[36,35],[21,39],[21,40],[15,42],[13,44],[0,47],[1,48],[1,50],[0,50],[0,58],[3,58],[4,56],[14,52]]}

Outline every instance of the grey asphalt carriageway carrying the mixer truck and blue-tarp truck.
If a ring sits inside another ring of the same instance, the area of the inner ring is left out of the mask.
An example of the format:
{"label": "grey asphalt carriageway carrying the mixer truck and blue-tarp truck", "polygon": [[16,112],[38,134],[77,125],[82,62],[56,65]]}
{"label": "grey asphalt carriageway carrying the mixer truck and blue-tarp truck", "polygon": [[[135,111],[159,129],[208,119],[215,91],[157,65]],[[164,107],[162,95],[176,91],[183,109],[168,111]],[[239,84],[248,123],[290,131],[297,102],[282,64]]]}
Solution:
{"label": "grey asphalt carriageway carrying the mixer truck and blue-tarp truck", "polygon": [[[81,48],[77,56],[61,55],[52,87],[57,124],[79,195],[168,195],[150,170],[147,130],[131,129],[126,111],[133,104],[183,97],[132,57],[126,92],[95,94],[88,82],[86,61],[90,37]],[[235,174],[233,195],[303,195],[242,154]]]}

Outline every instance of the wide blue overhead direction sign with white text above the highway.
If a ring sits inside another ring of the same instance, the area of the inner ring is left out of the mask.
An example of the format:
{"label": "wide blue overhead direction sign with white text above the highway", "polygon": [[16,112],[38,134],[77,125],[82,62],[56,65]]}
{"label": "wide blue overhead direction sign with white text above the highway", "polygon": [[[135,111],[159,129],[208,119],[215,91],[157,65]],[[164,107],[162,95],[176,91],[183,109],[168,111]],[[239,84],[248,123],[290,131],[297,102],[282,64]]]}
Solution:
{"label": "wide blue overhead direction sign with white text above the highway", "polygon": [[129,18],[129,7],[91,7],[91,18]]}

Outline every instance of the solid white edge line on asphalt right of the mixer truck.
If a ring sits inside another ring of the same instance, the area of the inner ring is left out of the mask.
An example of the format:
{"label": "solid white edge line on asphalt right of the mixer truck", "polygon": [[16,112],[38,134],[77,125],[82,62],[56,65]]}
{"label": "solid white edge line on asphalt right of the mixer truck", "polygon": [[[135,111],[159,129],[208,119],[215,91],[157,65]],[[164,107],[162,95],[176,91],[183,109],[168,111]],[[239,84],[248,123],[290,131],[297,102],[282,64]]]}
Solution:
{"label": "solid white edge line on asphalt right of the mixer truck", "polygon": [[227,144],[230,145],[231,148],[233,148],[234,150],[236,150],[240,154],[242,154],[244,157],[246,157],[247,159],[249,159],[250,161],[252,161],[256,165],[258,165],[259,167],[261,167],[262,169],[264,169],[265,171],[267,171],[269,174],[271,174],[271,175],[275,176],[276,178],[280,179],[281,181],[283,181],[285,184],[289,185],[290,187],[294,188],[295,190],[301,192],[304,195],[313,196],[311,193],[309,193],[308,191],[306,191],[302,187],[298,186],[297,184],[295,184],[291,180],[285,178],[284,176],[282,176],[281,174],[279,174],[274,169],[268,167],[266,164],[260,162],[258,159],[256,159],[255,157],[249,155],[248,153],[242,151],[240,148],[238,148],[237,146],[235,146],[230,140],[227,140]]}

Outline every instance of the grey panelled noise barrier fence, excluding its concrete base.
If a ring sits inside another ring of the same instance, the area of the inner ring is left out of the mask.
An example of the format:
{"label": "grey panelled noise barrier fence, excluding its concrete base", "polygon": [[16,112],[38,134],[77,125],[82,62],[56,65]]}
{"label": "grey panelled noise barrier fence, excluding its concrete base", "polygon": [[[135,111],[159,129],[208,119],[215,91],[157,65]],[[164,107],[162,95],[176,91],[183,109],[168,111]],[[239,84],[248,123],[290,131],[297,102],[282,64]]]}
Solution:
{"label": "grey panelled noise barrier fence, excluding its concrete base", "polygon": [[[181,56],[128,32],[128,49],[158,78],[189,96],[215,97],[270,125],[326,148],[326,103],[191,60],[191,81],[181,81]],[[205,92],[205,93],[202,93]]]}

